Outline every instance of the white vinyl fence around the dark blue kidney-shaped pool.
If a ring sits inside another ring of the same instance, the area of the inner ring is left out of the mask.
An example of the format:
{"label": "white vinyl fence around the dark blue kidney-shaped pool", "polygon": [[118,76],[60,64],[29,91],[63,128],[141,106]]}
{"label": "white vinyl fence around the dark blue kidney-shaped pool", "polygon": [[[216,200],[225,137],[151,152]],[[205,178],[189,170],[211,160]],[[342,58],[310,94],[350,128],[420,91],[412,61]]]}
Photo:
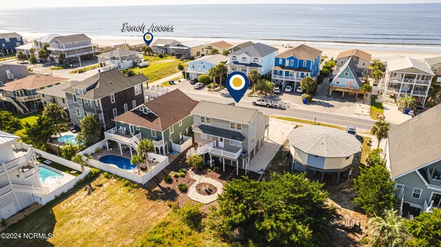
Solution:
{"label": "white vinyl fence around the dark blue kidney-shaped pool", "polygon": [[159,163],[156,164],[156,166],[151,168],[150,171],[144,173],[143,175],[138,175],[136,173],[133,173],[132,171],[120,169],[119,167],[116,167],[116,165],[114,164],[106,164],[98,160],[86,160],[86,163],[91,167],[95,167],[103,171],[107,171],[108,173],[112,173],[121,178],[126,178],[127,180],[132,180],[133,182],[137,182],[139,184],[145,184],[146,182],[151,180],[156,174],[162,171],[165,167],[167,167],[169,164],[168,157],[164,155],[149,153],[149,158],[150,159],[154,158],[156,159],[156,162]]}

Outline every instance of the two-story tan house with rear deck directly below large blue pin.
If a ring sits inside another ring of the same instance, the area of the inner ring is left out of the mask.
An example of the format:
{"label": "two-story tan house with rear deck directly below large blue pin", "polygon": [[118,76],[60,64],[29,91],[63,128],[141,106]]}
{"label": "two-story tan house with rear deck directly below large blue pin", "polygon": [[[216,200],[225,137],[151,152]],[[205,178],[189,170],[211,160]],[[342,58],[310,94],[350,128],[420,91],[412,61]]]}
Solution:
{"label": "two-story tan house with rear deck directly below large blue pin", "polygon": [[[269,116],[257,109],[223,105],[202,100],[192,110],[194,142],[198,148],[190,149],[191,155],[204,155],[210,164],[218,162],[245,170],[256,151],[264,143]],[[257,172],[257,171],[256,171]]]}

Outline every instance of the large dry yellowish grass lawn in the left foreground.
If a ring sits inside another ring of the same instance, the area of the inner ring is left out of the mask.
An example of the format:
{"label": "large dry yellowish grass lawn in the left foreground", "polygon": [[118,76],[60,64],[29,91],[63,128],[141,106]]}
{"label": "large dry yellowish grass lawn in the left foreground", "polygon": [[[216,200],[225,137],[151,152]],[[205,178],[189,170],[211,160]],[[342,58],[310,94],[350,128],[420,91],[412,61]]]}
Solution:
{"label": "large dry yellowish grass lawn in the left foreground", "polygon": [[3,231],[52,233],[52,239],[0,239],[0,246],[223,246],[148,195],[101,174]]}

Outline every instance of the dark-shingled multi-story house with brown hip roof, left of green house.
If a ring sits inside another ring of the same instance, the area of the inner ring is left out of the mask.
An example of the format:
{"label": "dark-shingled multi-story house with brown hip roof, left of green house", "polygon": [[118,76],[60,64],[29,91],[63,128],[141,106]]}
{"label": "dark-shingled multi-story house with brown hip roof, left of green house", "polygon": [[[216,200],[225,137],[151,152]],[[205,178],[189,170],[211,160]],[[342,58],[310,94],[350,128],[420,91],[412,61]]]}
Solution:
{"label": "dark-shingled multi-story house with brown hip roof, left of green house", "polygon": [[105,129],[115,126],[114,118],[145,102],[143,74],[128,77],[119,70],[101,72],[63,90],[70,119],[76,126],[85,116],[96,116]]}

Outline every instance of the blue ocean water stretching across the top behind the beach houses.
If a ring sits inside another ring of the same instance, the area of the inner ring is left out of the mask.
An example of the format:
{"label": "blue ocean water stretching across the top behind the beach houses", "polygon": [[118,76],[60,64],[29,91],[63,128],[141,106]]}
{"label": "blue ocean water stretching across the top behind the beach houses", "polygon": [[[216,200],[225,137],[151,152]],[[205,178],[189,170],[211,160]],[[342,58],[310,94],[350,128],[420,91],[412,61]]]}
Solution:
{"label": "blue ocean water stretching across the top behind the beach houses", "polygon": [[174,25],[174,32],[154,34],[176,38],[441,47],[441,3],[41,8],[1,10],[0,14],[0,30],[142,36],[121,32],[125,22]]}

